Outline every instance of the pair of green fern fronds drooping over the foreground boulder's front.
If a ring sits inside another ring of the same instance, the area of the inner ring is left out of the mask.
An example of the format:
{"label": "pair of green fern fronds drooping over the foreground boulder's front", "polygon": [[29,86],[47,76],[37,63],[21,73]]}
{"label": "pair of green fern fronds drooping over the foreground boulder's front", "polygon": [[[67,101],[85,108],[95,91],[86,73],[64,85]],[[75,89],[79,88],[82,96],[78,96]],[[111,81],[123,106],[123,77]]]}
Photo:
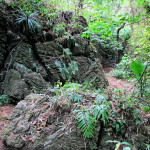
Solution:
{"label": "pair of green fern fronds drooping over the foreground boulder's front", "polygon": [[108,108],[108,101],[102,95],[98,95],[91,108],[85,109],[82,106],[81,109],[74,111],[76,113],[75,120],[77,120],[78,128],[83,132],[84,138],[93,137],[95,122],[100,118],[102,118],[104,125],[106,124]]}

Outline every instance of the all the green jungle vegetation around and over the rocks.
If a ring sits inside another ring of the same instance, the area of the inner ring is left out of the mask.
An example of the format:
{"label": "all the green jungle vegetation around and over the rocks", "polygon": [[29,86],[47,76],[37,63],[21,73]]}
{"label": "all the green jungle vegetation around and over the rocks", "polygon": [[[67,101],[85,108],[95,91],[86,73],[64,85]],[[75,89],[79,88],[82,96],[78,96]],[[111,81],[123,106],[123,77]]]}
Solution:
{"label": "all the green jungle vegetation around and over the rocks", "polygon": [[[78,28],[78,24],[59,23],[60,12],[72,12],[72,21],[83,16],[88,27],[80,26],[84,32],[82,38],[100,43],[101,47],[115,53],[115,67],[109,76],[132,82],[134,86],[130,91],[123,89],[96,89],[91,83],[85,81],[82,85],[70,83],[71,77],[78,70],[76,62],[70,60],[70,51],[64,51],[69,66],[56,66],[67,80],[64,85],[55,83],[57,103],[58,97],[69,98],[72,103],[79,104],[74,110],[74,118],[78,128],[83,132],[85,139],[94,136],[95,124],[102,120],[103,125],[112,126],[116,135],[120,134],[125,120],[123,114],[130,114],[135,118],[136,125],[141,124],[139,113],[150,113],[150,1],[149,0],[12,0],[6,1],[10,7],[18,7],[19,12],[16,24],[20,25],[21,32],[30,36],[37,36],[45,32],[41,26],[52,28],[59,38],[69,38],[72,31],[69,26]],[[44,19],[40,19],[40,18]],[[68,28],[68,32],[65,31]],[[107,41],[107,42],[106,42]],[[93,43],[90,43],[91,46]],[[122,51],[123,49],[123,51]],[[111,56],[110,56],[111,59]],[[103,62],[105,63],[105,62]],[[96,93],[95,101],[91,106],[81,105],[82,96]],[[60,96],[61,95],[61,96]],[[62,97],[63,95],[63,97]],[[7,95],[0,96],[0,104],[9,103]],[[109,104],[109,101],[112,103]],[[132,111],[129,111],[131,110]],[[122,114],[122,116],[121,116]],[[116,122],[115,122],[116,120]],[[132,145],[125,141],[108,141],[116,145],[126,145],[124,150],[131,150]],[[149,143],[144,143],[147,147]],[[93,148],[94,149],[94,148]]]}

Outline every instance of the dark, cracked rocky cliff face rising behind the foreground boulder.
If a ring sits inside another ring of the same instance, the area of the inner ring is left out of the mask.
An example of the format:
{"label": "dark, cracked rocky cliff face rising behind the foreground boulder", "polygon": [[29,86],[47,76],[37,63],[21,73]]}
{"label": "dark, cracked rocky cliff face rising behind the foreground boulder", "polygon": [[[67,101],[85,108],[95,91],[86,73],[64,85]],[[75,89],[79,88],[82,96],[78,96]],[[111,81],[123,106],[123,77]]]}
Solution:
{"label": "dark, cracked rocky cliff face rising behind the foreground boulder", "polygon": [[[106,87],[108,81],[101,66],[101,57],[89,44],[89,39],[81,38],[80,34],[87,26],[84,17],[80,16],[76,23],[78,27],[68,27],[73,24],[72,13],[60,14],[59,23],[51,29],[42,27],[43,35],[23,35],[16,24],[16,10],[1,3],[0,7],[0,91],[17,101],[23,99],[30,91],[42,92],[47,86],[52,86],[58,80],[65,82],[60,68],[56,66],[59,61],[66,69],[71,62],[76,62],[78,69],[70,81],[92,82],[96,88]],[[64,23],[68,32],[54,29]],[[81,27],[82,26],[82,27]],[[35,37],[34,37],[35,36]],[[34,37],[34,38],[33,38]],[[69,50],[69,58],[64,54]],[[69,70],[69,69],[68,69]],[[66,70],[66,74],[68,72]],[[66,76],[69,75],[69,72]]]}

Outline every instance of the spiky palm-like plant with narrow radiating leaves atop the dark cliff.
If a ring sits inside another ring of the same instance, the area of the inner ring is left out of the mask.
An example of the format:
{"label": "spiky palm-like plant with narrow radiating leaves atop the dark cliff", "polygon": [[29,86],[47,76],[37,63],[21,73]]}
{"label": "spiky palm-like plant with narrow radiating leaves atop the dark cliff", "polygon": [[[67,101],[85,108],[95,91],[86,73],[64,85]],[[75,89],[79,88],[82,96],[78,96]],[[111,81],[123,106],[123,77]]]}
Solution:
{"label": "spiky palm-like plant with narrow radiating leaves atop the dark cliff", "polygon": [[22,27],[22,31],[25,34],[29,34],[40,30],[40,24],[38,23],[37,13],[31,13],[31,11],[21,12],[18,15],[17,23]]}

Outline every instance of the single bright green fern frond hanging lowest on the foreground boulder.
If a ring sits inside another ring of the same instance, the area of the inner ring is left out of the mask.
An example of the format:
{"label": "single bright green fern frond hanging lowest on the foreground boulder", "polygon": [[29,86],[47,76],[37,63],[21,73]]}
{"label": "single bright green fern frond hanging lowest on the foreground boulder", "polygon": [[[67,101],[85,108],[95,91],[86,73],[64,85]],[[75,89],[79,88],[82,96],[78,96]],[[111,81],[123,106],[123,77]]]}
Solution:
{"label": "single bright green fern frond hanging lowest on the foreground boulder", "polygon": [[83,132],[84,138],[91,138],[94,135],[95,119],[89,114],[88,109],[75,110],[75,120],[77,120],[78,128]]}

